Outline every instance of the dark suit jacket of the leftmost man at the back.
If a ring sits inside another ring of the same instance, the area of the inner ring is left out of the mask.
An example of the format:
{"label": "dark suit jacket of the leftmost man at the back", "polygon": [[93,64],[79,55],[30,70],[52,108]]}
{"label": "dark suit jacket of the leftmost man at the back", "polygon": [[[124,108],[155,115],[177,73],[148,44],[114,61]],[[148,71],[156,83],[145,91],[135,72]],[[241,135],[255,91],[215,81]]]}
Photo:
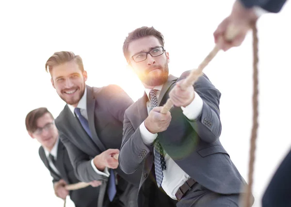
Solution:
{"label": "dark suit jacket of the leftmost man at the back", "polygon": [[[68,153],[61,141],[58,145],[57,154],[56,168],[60,172],[61,176],[49,166],[49,160],[46,157],[44,148],[42,146],[39,148],[39,156],[45,166],[49,169],[50,175],[53,178],[52,182],[57,182],[60,179],[65,180],[67,184],[80,182],[74,174],[74,169],[70,162]],[[97,207],[99,187],[93,188],[92,186],[88,186],[83,189],[70,191],[69,194],[76,207]]]}

